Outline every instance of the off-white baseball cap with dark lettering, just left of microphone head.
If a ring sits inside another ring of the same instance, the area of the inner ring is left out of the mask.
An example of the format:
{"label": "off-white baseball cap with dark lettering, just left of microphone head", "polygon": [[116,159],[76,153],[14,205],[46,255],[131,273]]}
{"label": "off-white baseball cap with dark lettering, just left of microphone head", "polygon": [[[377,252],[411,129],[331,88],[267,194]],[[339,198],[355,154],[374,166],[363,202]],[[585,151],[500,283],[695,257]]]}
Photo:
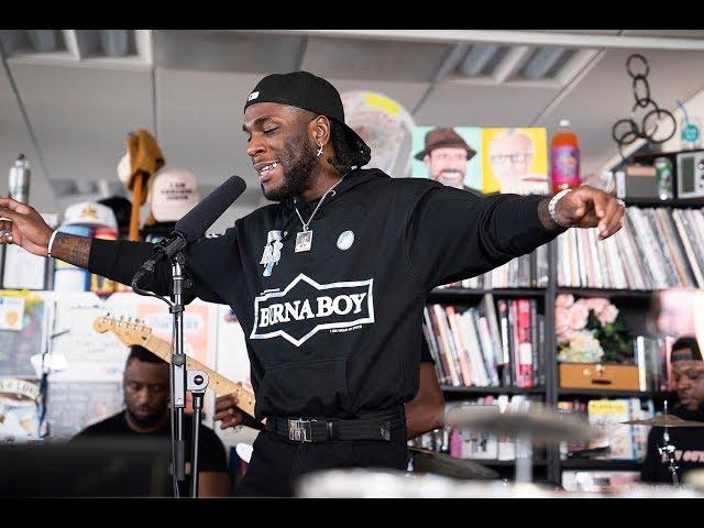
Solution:
{"label": "off-white baseball cap with dark lettering, just left of microphone head", "polygon": [[148,202],[157,222],[175,222],[199,201],[198,182],[188,170],[164,169],[151,180]]}

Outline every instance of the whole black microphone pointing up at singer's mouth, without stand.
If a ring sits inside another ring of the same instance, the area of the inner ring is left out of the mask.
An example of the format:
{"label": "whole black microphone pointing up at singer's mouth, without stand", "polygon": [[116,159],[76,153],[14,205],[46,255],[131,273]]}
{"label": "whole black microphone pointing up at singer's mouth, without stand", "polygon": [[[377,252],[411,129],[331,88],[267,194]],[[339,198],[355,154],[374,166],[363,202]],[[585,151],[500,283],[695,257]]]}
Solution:
{"label": "whole black microphone pointing up at singer's mouth, without stand", "polygon": [[246,184],[239,176],[230,176],[196,207],[176,222],[176,229],[154,246],[154,255],[146,261],[132,279],[132,287],[139,288],[142,277],[152,273],[161,261],[170,258],[188,244],[197,241],[215,221],[237,200]]}

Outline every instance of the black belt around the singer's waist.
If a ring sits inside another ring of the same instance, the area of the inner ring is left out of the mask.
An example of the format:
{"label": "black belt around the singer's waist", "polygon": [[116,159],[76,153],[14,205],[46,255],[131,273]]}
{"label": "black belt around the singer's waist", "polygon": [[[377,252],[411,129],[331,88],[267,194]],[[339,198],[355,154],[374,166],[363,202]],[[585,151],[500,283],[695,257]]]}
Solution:
{"label": "black belt around the singer's waist", "polygon": [[298,442],[330,440],[385,440],[393,430],[405,426],[403,409],[373,413],[353,419],[342,418],[266,418],[266,430]]}

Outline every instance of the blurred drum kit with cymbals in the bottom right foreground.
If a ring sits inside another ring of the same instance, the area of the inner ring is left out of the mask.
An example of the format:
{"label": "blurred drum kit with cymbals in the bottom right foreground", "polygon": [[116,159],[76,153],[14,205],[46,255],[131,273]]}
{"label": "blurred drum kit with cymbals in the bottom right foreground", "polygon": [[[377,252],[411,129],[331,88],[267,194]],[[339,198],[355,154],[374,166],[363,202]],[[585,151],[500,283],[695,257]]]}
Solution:
{"label": "blurred drum kit with cymbals in the bottom right foreground", "polygon": [[[557,446],[564,441],[591,441],[602,437],[601,431],[575,415],[562,414],[548,407],[506,409],[495,406],[452,405],[446,409],[448,426],[513,437],[528,447]],[[681,486],[676,474],[674,446],[669,429],[674,427],[704,427],[704,422],[688,421],[667,414],[654,418],[623,422],[631,426],[662,427],[663,446],[672,472],[672,486],[631,484],[625,488],[600,492],[570,492],[560,486],[538,484],[526,479],[531,468],[530,454],[516,457],[516,479],[502,480],[499,474],[473,460],[458,459],[428,449],[408,450],[407,471],[393,470],[328,470],[302,475],[297,483],[300,497],[393,497],[393,498],[573,498],[580,496],[608,497],[704,497],[704,472],[686,480]],[[530,449],[526,452],[530,453]],[[701,482],[701,485],[695,485]]]}

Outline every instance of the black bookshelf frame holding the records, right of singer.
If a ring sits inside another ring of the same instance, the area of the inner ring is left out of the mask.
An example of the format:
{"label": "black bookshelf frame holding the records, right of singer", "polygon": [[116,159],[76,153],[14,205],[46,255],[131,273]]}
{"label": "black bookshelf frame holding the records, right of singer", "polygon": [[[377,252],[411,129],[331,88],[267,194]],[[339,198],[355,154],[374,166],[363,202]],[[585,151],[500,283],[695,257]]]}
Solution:
{"label": "black bookshelf frame holding the records, right of singer", "polygon": [[[704,199],[626,199],[627,206],[638,208],[704,208]],[[595,288],[595,287],[568,287],[558,285],[558,243],[553,240],[548,245],[548,283],[544,288],[494,288],[494,289],[468,289],[468,288],[437,288],[428,296],[428,304],[441,304],[453,306],[475,306],[485,294],[492,294],[494,299],[536,299],[539,309],[544,316],[546,344],[542,365],[544,383],[540,387],[464,387],[442,385],[442,392],[447,400],[474,399],[487,395],[525,395],[539,397],[547,405],[557,406],[560,399],[600,399],[600,398],[640,398],[652,399],[656,408],[661,408],[667,399],[674,402],[676,395],[669,392],[639,392],[639,391],[613,391],[613,389],[579,389],[560,388],[557,362],[557,339],[554,332],[556,299],[559,294],[572,294],[576,297],[600,296],[608,297],[612,301],[624,307],[627,312],[627,323],[634,334],[647,333],[645,319],[650,307],[650,299],[657,289],[627,289],[627,288]],[[632,311],[632,314],[631,314]],[[540,448],[536,448],[540,449]],[[559,449],[549,448],[544,459],[535,459],[534,466],[544,472],[547,480],[553,483],[561,482],[563,470],[606,470],[606,471],[639,471],[640,462],[624,460],[600,459],[566,459],[561,460]],[[476,462],[492,466],[492,461],[476,460]],[[498,461],[496,461],[498,462]],[[515,462],[506,461],[499,465],[509,466]],[[496,465],[496,463],[494,463]],[[505,468],[508,472],[508,468]]]}

